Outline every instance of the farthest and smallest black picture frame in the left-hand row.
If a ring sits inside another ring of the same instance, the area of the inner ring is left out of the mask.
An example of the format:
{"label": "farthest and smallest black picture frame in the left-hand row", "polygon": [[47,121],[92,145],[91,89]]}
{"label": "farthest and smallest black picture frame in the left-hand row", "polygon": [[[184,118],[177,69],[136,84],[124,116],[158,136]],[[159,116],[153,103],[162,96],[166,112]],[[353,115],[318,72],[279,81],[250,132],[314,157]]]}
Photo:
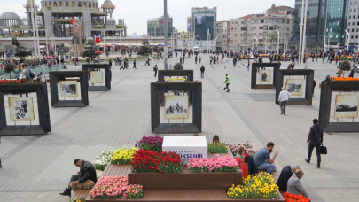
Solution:
{"label": "farthest and smallest black picture frame in the left-hand row", "polygon": [[[89,69],[105,69],[105,86],[91,86],[89,85],[88,91],[108,91],[111,90],[111,70],[108,64],[84,64],[82,71],[89,73]],[[88,77],[89,78],[89,77]]]}

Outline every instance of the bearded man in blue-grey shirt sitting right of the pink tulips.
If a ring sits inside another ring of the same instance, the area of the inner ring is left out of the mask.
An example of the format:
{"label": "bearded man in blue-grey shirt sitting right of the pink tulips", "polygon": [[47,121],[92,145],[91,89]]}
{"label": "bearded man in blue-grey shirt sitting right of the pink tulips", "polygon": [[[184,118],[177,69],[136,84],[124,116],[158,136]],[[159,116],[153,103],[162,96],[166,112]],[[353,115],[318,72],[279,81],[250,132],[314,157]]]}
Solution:
{"label": "bearded man in blue-grey shirt sitting right of the pink tulips", "polygon": [[270,159],[270,153],[273,151],[274,143],[269,142],[267,148],[262,148],[254,155],[255,167],[258,171],[266,170],[267,173],[272,174],[276,166],[274,160],[276,159],[278,152],[274,154],[273,159]]}

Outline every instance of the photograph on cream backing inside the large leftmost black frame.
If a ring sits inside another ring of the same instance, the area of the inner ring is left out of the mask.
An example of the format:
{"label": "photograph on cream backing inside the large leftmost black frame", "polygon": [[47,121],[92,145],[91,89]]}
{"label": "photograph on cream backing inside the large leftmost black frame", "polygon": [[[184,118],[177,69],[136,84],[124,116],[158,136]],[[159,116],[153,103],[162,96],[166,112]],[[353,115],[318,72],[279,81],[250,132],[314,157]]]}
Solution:
{"label": "photograph on cream backing inside the large leftmost black frame", "polygon": [[32,97],[9,97],[10,120],[35,120]]}

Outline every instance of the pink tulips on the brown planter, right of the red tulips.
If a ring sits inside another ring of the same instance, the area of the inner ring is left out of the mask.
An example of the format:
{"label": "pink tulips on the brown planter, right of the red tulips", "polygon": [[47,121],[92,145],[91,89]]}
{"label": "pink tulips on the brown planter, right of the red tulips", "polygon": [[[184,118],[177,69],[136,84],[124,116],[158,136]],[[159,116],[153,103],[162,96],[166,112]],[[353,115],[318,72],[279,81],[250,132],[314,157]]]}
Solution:
{"label": "pink tulips on the brown planter, right of the red tulips", "polygon": [[191,173],[237,172],[238,162],[232,157],[214,157],[212,159],[193,158],[189,160]]}

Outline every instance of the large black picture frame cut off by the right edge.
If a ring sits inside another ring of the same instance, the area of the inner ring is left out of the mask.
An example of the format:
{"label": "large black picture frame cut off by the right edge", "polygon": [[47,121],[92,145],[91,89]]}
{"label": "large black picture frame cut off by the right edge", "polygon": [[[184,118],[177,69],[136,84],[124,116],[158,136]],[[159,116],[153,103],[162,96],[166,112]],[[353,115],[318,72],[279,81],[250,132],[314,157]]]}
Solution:
{"label": "large black picture frame cut off by the right edge", "polygon": [[358,91],[359,93],[359,81],[322,82],[318,120],[324,132],[359,132],[359,122],[330,122],[332,91]]}

